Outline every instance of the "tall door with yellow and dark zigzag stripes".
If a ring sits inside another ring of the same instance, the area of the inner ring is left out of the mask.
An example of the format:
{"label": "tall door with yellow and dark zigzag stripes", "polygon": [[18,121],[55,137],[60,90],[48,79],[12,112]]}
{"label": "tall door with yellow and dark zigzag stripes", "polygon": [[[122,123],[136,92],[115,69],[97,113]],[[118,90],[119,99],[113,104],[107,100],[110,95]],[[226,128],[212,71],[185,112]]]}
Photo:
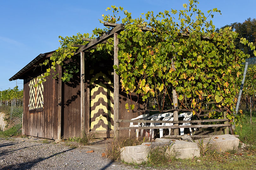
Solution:
{"label": "tall door with yellow and dark zigzag stripes", "polygon": [[90,129],[113,130],[113,76],[110,71],[90,70]]}

